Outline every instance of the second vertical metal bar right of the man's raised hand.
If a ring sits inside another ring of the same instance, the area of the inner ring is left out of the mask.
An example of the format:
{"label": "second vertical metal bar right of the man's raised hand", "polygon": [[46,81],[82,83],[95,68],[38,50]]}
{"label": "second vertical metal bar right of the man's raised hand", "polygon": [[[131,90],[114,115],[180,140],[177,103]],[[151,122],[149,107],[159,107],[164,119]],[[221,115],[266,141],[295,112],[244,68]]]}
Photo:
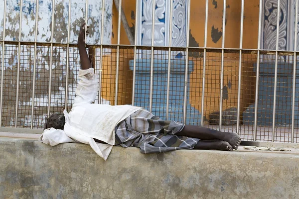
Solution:
{"label": "second vertical metal bar right of the man's raised hand", "polygon": [[115,77],[115,105],[117,105],[117,102],[118,102],[118,82],[119,82],[119,68],[120,68],[120,41],[121,41],[121,23],[122,23],[121,16],[122,16],[122,0],[120,0],[119,18],[118,18],[116,77]]}

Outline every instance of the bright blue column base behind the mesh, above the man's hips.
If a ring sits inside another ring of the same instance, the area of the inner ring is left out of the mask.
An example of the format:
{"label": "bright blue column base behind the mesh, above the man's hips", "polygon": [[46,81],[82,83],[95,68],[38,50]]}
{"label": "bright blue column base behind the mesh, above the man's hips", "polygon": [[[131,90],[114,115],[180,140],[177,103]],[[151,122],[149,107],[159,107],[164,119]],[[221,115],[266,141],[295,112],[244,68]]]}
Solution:
{"label": "bright blue column base behind the mesh, above the man's hips", "polygon": [[[131,70],[133,70],[133,63],[131,60]],[[168,119],[183,122],[185,61],[173,60],[170,65]],[[193,71],[193,65],[194,63],[189,61],[187,95],[189,95],[189,74]],[[162,119],[166,119],[167,70],[168,60],[154,60],[152,113]],[[138,59],[136,60],[135,105],[149,108],[149,88],[150,59]],[[191,107],[187,97],[186,124],[200,125],[200,122],[201,113]]]}

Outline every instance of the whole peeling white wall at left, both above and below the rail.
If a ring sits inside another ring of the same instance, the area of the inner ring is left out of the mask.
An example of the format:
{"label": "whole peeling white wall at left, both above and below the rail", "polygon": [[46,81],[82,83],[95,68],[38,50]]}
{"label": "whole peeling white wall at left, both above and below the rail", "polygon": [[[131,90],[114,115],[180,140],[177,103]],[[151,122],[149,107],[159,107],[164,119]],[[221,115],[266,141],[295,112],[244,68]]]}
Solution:
{"label": "whole peeling white wall at left, both above and below the rail", "polygon": [[[68,0],[56,0],[54,5],[54,32],[53,42],[66,43],[68,37],[68,25],[70,28],[70,43],[76,43],[79,26],[84,22],[85,0],[71,1],[71,14],[68,16]],[[105,0],[104,12],[104,39],[103,44],[111,44],[112,38],[112,0]],[[38,1],[38,26],[37,42],[51,41],[52,25],[52,0]],[[3,39],[3,10],[4,0],[0,0],[0,39]],[[22,10],[21,38],[19,38],[19,15]],[[23,0],[20,8],[20,0],[6,1],[5,41],[34,41],[35,37],[36,0]],[[68,24],[68,17],[71,17]],[[101,38],[102,2],[89,0],[88,25],[90,35],[87,43],[99,44]],[[51,96],[51,113],[60,112],[64,108],[66,91],[66,51],[65,47],[53,47],[53,62],[50,66],[50,47],[38,46],[36,50],[36,76],[34,96],[34,127],[42,127],[47,116],[48,97]],[[0,57],[3,50],[0,47]],[[76,48],[70,48],[69,57],[69,88],[68,105],[71,105],[75,96],[77,73],[80,67],[79,54]],[[21,45],[20,70],[19,70],[19,99],[16,103],[18,47],[5,44],[4,70],[3,70],[3,117],[2,126],[17,127],[30,126],[32,88],[33,88],[33,62],[34,47]],[[2,63],[1,63],[2,64]],[[50,67],[52,68],[52,85],[49,94]],[[15,106],[18,104],[18,120],[15,121]]]}

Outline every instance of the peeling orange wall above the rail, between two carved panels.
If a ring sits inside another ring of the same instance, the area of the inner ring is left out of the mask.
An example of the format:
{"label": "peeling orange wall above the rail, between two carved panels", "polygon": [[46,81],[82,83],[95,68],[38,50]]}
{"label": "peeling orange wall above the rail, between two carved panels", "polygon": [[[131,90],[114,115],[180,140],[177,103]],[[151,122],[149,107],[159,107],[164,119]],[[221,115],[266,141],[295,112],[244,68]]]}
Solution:
{"label": "peeling orange wall above the rail, between two carved panels", "polygon": [[[213,3],[214,2],[214,3]],[[217,2],[217,6],[216,6]],[[225,48],[240,47],[241,1],[227,0]],[[247,0],[244,4],[243,48],[257,48],[259,0]],[[191,1],[190,29],[191,34],[204,46],[205,0]],[[222,47],[222,37],[213,33],[223,31],[223,0],[209,0],[207,47]],[[216,29],[216,30],[215,30]]]}

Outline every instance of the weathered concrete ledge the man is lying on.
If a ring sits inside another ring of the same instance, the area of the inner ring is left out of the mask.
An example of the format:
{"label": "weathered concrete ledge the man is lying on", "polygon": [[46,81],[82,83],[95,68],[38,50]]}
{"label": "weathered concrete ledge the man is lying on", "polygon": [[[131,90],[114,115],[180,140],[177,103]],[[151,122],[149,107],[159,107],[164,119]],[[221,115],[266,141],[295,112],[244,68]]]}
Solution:
{"label": "weathered concrete ledge the man is lying on", "polygon": [[0,199],[295,199],[299,154],[180,150],[144,155],[114,147],[50,147],[0,138]]}

